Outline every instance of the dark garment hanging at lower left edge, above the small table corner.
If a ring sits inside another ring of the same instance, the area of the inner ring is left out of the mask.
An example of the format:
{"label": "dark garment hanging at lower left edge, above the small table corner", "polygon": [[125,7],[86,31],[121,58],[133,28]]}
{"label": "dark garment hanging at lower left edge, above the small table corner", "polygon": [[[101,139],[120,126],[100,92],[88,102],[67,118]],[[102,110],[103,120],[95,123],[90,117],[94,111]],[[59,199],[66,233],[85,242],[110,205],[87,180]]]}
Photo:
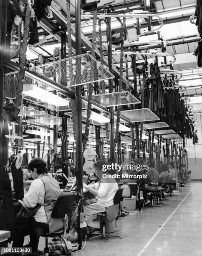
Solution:
{"label": "dark garment hanging at lower left edge, above the small table corner", "polygon": [[8,172],[0,172],[0,196],[2,203],[0,205],[0,230],[9,230],[13,232],[13,197]]}

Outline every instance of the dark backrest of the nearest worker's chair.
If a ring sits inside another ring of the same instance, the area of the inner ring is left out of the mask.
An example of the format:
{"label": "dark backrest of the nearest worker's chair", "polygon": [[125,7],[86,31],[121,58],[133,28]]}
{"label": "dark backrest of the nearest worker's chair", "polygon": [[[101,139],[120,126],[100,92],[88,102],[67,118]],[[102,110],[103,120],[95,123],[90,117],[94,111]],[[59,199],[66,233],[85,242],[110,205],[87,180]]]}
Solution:
{"label": "dark backrest of the nearest worker's chair", "polygon": [[73,204],[74,204],[74,195],[61,195],[58,197],[52,213],[51,217],[52,218],[64,218],[65,215],[69,216],[71,215],[71,212],[73,210]]}

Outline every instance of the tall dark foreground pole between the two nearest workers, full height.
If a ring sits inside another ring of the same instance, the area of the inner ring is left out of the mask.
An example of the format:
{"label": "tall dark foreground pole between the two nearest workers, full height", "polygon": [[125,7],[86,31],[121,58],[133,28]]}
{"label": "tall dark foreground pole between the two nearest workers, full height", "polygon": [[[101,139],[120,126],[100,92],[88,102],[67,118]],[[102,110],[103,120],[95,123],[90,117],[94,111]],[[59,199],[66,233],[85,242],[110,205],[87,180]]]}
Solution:
{"label": "tall dark foreground pole between the two nearest workers, full height", "polygon": [[[76,11],[76,55],[81,54],[81,3],[75,0]],[[80,80],[81,61],[76,61],[76,80]],[[83,166],[82,166],[82,122],[81,122],[81,85],[76,86],[76,190],[77,195],[83,193]],[[82,247],[82,230],[80,227],[80,212],[82,211],[83,201],[78,205],[77,230],[78,230],[78,249]]]}

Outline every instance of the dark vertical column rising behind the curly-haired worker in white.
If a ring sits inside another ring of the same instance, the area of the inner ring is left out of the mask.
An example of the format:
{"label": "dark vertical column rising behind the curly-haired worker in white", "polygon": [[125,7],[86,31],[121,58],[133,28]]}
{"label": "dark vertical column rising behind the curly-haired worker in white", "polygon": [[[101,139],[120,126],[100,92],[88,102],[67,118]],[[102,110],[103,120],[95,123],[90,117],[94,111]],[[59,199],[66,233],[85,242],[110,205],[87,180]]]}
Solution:
{"label": "dark vertical column rising behind the curly-haired worker in white", "polygon": [[[111,13],[111,10],[108,9],[107,13]],[[106,20],[106,38],[107,38],[107,49],[108,49],[108,65],[109,72],[113,73],[112,69],[112,49],[111,49],[111,18],[107,18]],[[109,92],[113,92],[113,80],[109,79]],[[109,108],[109,118],[110,118],[110,126],[109,126],[109,139],[110,139],[110,161],[114,163],[114,107]]]}

